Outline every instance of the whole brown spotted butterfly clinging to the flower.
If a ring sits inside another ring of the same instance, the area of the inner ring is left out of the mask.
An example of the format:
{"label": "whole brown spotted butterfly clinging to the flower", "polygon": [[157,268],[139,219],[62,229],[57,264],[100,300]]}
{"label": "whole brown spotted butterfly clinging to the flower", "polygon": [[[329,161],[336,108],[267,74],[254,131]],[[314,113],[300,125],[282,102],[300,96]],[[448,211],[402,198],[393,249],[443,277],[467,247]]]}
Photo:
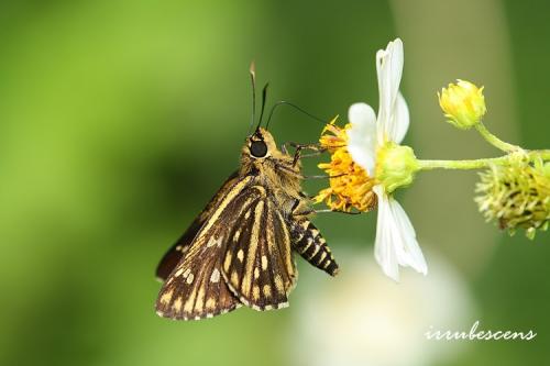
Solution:
{"label": "whole brown spotted butterfly clinging to the flower", "polygon": [[279,151],[260,123],[241,149],[240,168],[162,258],[158,315],[199,320],[243,304],[260,311],[285,308],[298,278],[293,252],[338,274],[326,240],[309,220],[314,210],[301,191],[299,148],[294,156]]}

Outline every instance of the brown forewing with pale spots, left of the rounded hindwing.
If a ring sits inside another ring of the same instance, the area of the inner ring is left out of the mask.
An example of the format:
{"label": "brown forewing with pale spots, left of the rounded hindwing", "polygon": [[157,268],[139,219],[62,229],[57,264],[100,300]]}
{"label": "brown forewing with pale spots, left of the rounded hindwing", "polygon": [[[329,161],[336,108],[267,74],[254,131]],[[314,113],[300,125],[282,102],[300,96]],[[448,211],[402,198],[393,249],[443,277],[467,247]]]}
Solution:
{"label": "brown forewing with pale spots, left of the rounded hindwing", "polygon": [[189,249],[164,282],[156,310],[161,317],[194,320],[226,313],[240,306],[222,276],[222,260],[238,218],[258,200],[252,176],[238,179],[197,232]]}

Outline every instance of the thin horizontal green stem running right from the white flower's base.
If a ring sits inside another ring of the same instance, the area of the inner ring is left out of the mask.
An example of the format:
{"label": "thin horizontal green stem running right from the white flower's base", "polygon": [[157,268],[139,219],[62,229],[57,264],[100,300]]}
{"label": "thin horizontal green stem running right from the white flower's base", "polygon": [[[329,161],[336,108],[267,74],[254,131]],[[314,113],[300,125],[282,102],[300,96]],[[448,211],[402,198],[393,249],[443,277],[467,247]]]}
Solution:
{"label": "thin horizontal green stem running right from the white flower's base", "polygon": [[[433,169],[481,169],[488,167],[491,165],[506,165],[514,158],[515,154],[508,154],[499,157],[473,159],[473,160],[422,160],[418,159],[418,165],[420,170],[433,170]],[[550,149],[531,151],[525,152],[525,156],[529,160],[535,158],[542,158],[543,160],[550,160]]]}

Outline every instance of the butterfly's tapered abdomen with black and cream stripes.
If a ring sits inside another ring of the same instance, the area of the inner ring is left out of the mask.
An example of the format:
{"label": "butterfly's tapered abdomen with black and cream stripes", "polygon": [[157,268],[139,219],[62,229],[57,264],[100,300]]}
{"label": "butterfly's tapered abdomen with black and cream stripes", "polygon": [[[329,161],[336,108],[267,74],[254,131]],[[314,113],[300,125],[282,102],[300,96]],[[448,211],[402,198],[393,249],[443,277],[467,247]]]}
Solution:
{"label": "butterfly's tapered abdomen with black and cream stripes", "polygon": [[331,276],[338,275],[338,264],[332,257],[327,241],[309,220],[299,220],[290,224],[293,248],[304,259]]}

